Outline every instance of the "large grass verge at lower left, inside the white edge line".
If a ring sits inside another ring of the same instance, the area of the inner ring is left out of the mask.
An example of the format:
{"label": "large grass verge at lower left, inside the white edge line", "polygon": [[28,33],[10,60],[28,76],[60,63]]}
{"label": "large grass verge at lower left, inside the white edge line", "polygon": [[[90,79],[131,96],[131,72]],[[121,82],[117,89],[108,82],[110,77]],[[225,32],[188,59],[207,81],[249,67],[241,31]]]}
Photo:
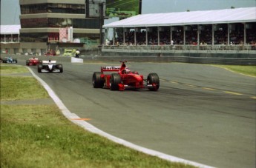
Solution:
{"label": "large grass verge at lower left, inside the white edge line", "polygon": [[[47,96],[34,78],[1,76],[1,101]],[[0,120],[2,168],[192,167],[145,155],[88,132],[68,121],[56,105],[1,104]]]}

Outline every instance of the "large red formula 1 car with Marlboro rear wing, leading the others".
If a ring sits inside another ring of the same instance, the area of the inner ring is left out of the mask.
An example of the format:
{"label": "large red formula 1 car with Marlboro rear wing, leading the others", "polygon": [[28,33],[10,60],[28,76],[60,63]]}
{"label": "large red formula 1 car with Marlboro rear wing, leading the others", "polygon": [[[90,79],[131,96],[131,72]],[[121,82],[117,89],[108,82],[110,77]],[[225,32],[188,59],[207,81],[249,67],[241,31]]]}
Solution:
{"label": "large red formula 1 car with Marlboro rear wing, leading the others", "polygon": [[101,67],[101,72],[94,72],[92,84],[94,88],[108,88],[111,90],[145,89],[157,91],[160,79],[157,73],[149,73],[148,78],[137,72],[131,72],[122,62],[121,67]]}

